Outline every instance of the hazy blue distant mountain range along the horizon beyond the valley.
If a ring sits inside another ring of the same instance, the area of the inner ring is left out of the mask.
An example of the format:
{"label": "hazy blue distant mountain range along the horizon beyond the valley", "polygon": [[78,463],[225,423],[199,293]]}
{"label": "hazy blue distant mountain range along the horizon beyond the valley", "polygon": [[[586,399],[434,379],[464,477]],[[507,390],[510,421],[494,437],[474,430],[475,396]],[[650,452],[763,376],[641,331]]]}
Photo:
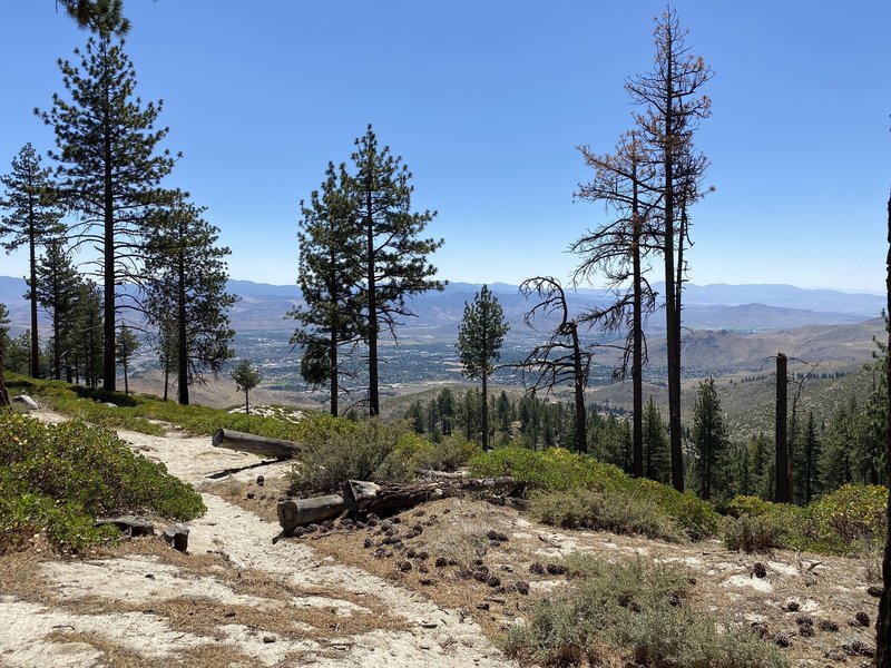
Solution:
{"label": "hazy blue distant mountain range along the horizon beyond the valley", "polygon": [[[480,284],[450,283],[442,292],[430,292],[411,303],[418,317],[405,318],[404,335],[421,338],[453,338],[463,314],[464,302],[473,299]],[[528,331],[525,314],[535,304],[520,295],[516,285],[493,283],[489,288],[498,296],[515,335]],[[654,284],[657,292],[663,284]],[[28,327],[28,303],[25,281],[0,276],[0,302],[10,311],[12,331]],[[228,291],[241,299],[232,310],[232,323],[238,332],[286,332],[294,322],[285,313],[300,303],[296,285],[270,285],[251,281],[229,281]],[[884,297],[851,294],[832,289],[804,289],[791,285],[695,285],[685,287],[684,324],[694,331],[730,330],[763,332],[805,325],[855,324],[879,315]],[[570,310],[606,303],[609,291],[580,288],[567,292]],[[652,335],[664,331],[664,316],[655,313],[647,324]],[[547,323],[541,323],[547,328]]]}

